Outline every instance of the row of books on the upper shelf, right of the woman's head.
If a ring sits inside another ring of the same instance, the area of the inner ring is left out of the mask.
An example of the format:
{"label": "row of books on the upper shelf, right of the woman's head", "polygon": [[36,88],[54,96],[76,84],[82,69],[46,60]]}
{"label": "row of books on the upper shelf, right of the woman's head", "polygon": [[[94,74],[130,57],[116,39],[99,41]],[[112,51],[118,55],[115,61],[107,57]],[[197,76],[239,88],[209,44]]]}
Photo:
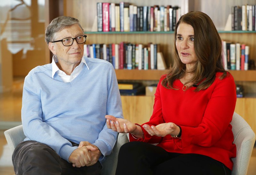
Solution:
{"label": "row of books on the upper shelf, right of the woman's head", "polygon": [[256,31],[256,5],[242,5],[231,7],[231,29]]}

